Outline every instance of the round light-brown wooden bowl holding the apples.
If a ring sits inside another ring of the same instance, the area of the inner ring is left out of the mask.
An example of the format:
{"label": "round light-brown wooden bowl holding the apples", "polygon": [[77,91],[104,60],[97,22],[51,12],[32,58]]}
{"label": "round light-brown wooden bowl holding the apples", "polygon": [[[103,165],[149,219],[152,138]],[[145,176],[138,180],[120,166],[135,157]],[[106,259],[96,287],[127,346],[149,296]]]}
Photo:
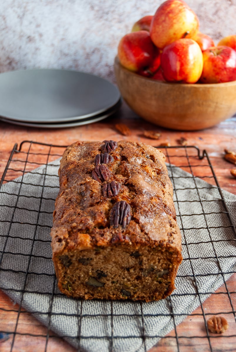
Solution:
{"label": "round light-brown wooden bowl holding the apples", "polygon": [[212,127],[236,113],[236,81],[167,83],[140,76],[114,63],[117,85],[129,107],[153,124],[175,130]]}

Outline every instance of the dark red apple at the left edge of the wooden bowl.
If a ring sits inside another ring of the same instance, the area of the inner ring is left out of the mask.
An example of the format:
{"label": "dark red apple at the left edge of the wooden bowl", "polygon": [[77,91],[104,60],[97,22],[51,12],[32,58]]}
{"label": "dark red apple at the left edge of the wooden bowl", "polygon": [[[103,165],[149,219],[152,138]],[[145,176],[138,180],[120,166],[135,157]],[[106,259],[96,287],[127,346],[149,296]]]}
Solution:
{"label": "dark red apple at the left edge of the wooden bowl", "polygon": [[120,63],[131,71],[139,71],[150,65],[155,52],[150,34],[147,31],[128,33],[118,45]]}

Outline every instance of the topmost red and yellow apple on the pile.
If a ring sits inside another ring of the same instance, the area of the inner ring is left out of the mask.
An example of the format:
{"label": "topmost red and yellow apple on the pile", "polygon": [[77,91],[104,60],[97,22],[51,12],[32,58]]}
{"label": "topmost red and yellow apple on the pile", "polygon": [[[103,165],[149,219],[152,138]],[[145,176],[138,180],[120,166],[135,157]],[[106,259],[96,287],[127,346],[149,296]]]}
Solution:
{"label": "topmost red and yellow apple on the pile", "polygon": [[167,0],[158,7],[153,16],[150,35],[153,43],[163,49],[186,34],[193,37],[199,29],[196,14],[182,0]]}

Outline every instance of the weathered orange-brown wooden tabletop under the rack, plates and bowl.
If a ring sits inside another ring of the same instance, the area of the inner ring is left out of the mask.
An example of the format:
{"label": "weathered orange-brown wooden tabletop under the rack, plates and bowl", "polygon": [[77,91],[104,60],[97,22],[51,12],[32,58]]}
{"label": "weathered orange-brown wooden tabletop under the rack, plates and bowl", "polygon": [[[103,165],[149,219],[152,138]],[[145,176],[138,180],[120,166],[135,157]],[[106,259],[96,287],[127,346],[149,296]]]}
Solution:
{"label": "weathered orange-brown wooden tabletop under the rack, plates and bowl", "polygon": [[[115,128],[116,123],[125,123],[131,129],[131,136],[122,136]],[[144,130],[155,130],[161,133],[159,140],[145,138],[143,136]],[[125,104],[123,104],[120,111],[110,118],[103,121],[96,122],[90,125],[78,126],[65,129],[39,129],[28,128],[17,125],[11,125],[0,122],[0,176],[4,172],[8,157],[15,143],[20,144],[23,140],[33,140],[35,142],[43,142],[56,145],[69,145],[76,140],[104,140],[104,139],[132,139],[139,142],[144,142],[157,146],[160,143],[170,143],[170,145],[178,145],[181,137],[187,140],[188,145],[196,145],[200,150],[206,149],[210,157],[211,164],[217,176],[221,188],[236,194],[236,179],[230,175],[230,169],[234,165],[226,162],[223,158],[224,149],[236,151],[236,117],[232,117],[221,124],[202,131],[182,132],[171,131],[155,125],[150,124],[140,119],[134,114]],[[13,177],[13,175],[12,175]],[[231,276],[227,281],[230,292],[236,291],[235,287],[236,275]],[[217,291],[221,292],[224,287],[220,287]],[[234,298],[234,310],[236,307],[236,293],[232,295]],[[225,298],[226,299],[226,298]],[[207,312],[220,312],[224,307],[224,300],[222,295],[211,295],[204,302],[204,310]],[[14,331],[18,305],[11,302],[11,300],[0,291],[0,331]],[[10,310],[10,312],[8,311]],[[13,311],[15,310],[15,311]],[[199,336],[206,335],[205,327],[202,325],[202,310],[198,308],[195,310],[195,322],[199,319],[199,325],[192,325],[192,316],[186,318],[178,326],[178,334],[188,336],[196,336],[188,340],[180,339],[180,351],[210,351],[207,338],[199,338]],[[229,319],[230,332],[235,335],[234,317]],[[47,329],[36,321],[28,313],[21,317],[21,325],[24,327],[26,335],[17,337],[14,343],[13,351],[44,351],[46,339],[45,337],[29,338],[27,332],[35,335],[45,335]],[[74,348],[69,346],[65,341],[55,336],[50,337],[47,351],[74,351]],[[170,337],[175,337],[175,331],[168,334]],[[223,335],[222,335],[223,336]],[[198,337],[198,338],[197,338]],[[10,351],[12,335],[5,342],[0,343],[0,352]],[[211,339],[213,351],[235,351],[236,339],[234,338],[217,338]],[[199,347],[200,346],[200,347]],[[156,347],[153,347],[150,352],[175,352],[177,351],[175,338],[161,339]],[[102,351],[103,352],[103,351]],[[105,351],[104,351],[105,352]],[[127,351],[128,352],[128,351]]]}

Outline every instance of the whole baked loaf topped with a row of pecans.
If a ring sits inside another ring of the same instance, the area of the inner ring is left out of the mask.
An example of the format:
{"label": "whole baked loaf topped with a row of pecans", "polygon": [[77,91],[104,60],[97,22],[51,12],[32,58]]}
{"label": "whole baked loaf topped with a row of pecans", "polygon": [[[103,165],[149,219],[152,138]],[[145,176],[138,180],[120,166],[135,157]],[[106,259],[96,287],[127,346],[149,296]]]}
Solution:
{"label": "whole baked loaf topped with a row of pecans", "polygon": [[181,263],[164,154],[135,142],[76,142],[63,153],[53,214],[58,286],[85,299],[159,300]]}

